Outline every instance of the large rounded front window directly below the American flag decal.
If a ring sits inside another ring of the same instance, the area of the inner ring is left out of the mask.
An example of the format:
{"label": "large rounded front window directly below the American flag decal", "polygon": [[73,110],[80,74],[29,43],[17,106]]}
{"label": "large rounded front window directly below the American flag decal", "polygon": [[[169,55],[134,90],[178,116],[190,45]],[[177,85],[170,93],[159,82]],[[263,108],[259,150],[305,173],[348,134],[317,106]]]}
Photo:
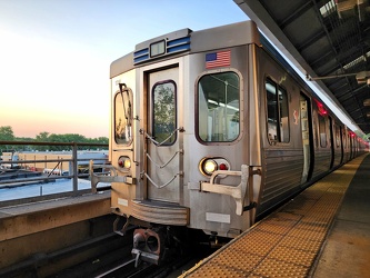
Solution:
{"label": "large rounded front window directly below the American flag decal", "polygon": [[206,75],[198,82],[198,138],[230,142],[239,137],[240,79],[236,72]]}

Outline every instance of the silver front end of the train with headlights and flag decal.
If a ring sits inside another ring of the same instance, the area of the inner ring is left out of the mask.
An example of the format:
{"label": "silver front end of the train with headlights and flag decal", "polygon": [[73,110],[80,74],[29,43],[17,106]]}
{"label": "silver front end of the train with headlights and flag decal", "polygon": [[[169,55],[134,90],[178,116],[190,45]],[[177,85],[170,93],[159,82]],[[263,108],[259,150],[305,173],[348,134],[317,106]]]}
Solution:
{"label": "silver front end of the train with headlights and flag decal", "polygon": [[248,92],[258,39],[251,21],[182,29],[112,63],[111,176],[91,165],[91,179],[93,190],[111,182],[112,212],[127,219],[114,230],[138,226],[137,258],[160,264],[182,228],[232,238],[253,224],[261,169]]}

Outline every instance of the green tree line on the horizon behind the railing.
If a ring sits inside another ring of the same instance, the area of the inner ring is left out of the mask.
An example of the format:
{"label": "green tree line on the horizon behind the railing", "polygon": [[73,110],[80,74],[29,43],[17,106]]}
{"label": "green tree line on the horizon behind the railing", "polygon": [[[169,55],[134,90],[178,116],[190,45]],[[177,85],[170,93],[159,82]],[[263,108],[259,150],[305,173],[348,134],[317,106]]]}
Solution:
{"label": "green tree line on the horizon behind the railing", "polygon": [[[36,138],[30,137],[16,137],[10,126],[0,127],[0,143],[1,141],[24,141],[24,142],[78,142],[91,146],[78,146],[79,150],[98,150],[107,149],[103,146],[93,145],[108,145],[108,137],[86,138],[82,135],[66,133],[56,135],[49,132],[40,132]],[[0,152],[2,151],[20,151],[20,150],[38,150],[38,151],[58,151],[70,150],[69,146],[46,146],[46,145],[0,145]]]}

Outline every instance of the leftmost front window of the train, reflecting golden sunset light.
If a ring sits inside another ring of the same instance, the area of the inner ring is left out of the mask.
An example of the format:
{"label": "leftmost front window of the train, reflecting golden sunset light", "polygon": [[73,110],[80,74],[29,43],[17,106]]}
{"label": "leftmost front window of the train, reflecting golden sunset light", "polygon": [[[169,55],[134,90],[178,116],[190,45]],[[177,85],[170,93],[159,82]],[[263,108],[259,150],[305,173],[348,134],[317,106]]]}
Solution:
{"label": "leftmost front window of the train, reflecting golden sunset light", "polygon": [[132,91],[123,88],[114,97],[114,140],[129,145],[132,140]]}

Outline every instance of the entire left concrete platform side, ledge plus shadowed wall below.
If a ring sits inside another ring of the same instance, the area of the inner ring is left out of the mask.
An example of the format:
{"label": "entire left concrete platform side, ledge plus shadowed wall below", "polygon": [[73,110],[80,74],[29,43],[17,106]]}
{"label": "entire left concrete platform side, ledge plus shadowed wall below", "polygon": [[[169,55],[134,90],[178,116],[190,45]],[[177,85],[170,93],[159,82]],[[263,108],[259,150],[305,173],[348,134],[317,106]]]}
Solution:
{"label": "entire left concrete platform side, ledge plus shadowed wall below", "polygon": [[0,207],[0,277],[53,277],[99,256],[113,220],[110,191]]}

